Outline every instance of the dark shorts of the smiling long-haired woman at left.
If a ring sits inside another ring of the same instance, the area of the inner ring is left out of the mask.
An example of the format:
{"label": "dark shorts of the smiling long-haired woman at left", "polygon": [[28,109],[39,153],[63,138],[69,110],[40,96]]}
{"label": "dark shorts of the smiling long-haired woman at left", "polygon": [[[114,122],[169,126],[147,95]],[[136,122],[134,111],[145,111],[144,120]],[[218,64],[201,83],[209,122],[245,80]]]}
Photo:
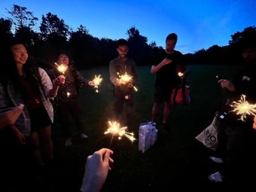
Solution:
{"label": "dark shorts of the smiling long-haired woman at left", "polygon": [[46,109],[43,107],[33,109],[29,111],[30,123],[31,123],[31,133],[37,132],[45,126],[51,124],[49,115],[47,114]]}

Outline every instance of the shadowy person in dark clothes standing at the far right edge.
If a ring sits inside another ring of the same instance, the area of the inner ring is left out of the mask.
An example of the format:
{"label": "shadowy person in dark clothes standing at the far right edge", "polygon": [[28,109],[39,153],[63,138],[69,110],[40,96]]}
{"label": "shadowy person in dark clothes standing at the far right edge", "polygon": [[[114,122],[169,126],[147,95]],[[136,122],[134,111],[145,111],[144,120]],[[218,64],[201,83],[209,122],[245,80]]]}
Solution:
{"label": "shadowy person in dark clothes standing at the far right edge", "polygon": [[237,44],[241,47],[245,66],[233,81],[218,81],[228,91],[217,119],[218,153],[224,164],[221,172],[209,175],[209,179],[226,181],[231,186],[245,186],[242,184],[254,184],[256,179],[256,130],[253,129],[256,110],[256,28],[246,28]]}

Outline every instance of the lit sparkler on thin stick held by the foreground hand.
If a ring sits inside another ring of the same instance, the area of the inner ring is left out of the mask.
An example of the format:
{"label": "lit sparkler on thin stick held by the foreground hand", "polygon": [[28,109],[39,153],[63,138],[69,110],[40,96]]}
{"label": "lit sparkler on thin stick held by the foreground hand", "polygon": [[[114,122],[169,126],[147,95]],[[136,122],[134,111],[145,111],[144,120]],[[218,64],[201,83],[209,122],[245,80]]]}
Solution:
{"label": "lit sparkler on thin stick held by the foreground hand", "polygon": [[[117,121],[108,121],[108,124],[108,130],[105,131],[104,134],[112,133],[111,142],[114,136],[118,136],[119,140],[122,139],[122,136],[126,136],[126,138],[130,139],[131,142],[136,140],[133,136],[133,133],[126,132],[127,126],[120,127],[120,123],[118,123]],[[108,148],[110,148],[111,142]]]}

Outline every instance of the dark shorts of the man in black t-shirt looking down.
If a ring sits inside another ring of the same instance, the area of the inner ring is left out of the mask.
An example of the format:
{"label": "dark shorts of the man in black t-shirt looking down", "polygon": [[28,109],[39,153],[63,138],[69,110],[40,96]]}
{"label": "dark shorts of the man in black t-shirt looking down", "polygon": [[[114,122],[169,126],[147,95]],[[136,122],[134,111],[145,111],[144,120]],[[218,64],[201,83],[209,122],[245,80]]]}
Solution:
{"label": "dark shorts of the man in black t-shirt looking down", "polygon": [[154,102],[161,103],[161,102],[170,102],[172,93],[172,87],[154,87]]}

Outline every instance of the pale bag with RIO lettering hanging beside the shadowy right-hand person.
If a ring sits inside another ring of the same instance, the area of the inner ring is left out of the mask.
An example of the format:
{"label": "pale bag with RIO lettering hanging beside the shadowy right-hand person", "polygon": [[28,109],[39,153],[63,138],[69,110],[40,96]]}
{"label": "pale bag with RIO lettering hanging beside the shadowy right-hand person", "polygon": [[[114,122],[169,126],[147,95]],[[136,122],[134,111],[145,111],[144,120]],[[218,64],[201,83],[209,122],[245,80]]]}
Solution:
{"label": "pale bag with RIO lettering hanging beside the shadowy right-hand person", "polygon": [[212,150],[216,150],[218,146],[218,132],[216,127],[216,120],[218,117],[214,117],[212,120],[212,123],[206,127],[206,130],[203,130],[202,133],[200,133],[198,136],[196,136],[196,139],[203,143],[203,145],[206,146],[206,148],[210,148]]}

